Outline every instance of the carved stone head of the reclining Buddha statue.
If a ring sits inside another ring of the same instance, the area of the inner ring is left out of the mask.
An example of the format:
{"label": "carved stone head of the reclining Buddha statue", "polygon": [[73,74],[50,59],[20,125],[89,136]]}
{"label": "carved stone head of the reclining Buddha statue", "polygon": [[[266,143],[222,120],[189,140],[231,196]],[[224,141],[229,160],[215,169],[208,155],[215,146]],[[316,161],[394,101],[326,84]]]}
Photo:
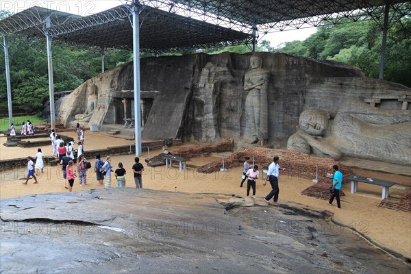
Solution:
{"label": "carved stone head of the reclining Buddha statue", "polygon": [[312,136],[323,136],[327,131],[328,121],[328,112],[308,109],[301,113],[299,126],[304,132]]}

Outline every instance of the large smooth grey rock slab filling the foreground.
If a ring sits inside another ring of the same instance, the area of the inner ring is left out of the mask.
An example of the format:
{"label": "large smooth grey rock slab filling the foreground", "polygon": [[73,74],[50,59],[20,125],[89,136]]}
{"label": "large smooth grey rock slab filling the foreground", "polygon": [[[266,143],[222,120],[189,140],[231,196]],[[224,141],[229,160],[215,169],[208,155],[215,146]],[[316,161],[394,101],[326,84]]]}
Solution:
{"label": "large smooth grey rock slab filling the foreground", "polygon": [[[1,200],[1,273],[406,273],[327,212],[111,188]],[[238,203],[238,204],[237,204]],[[304,214],[300,215],[300,214]],[[320,218],[320,219],[318,219]]]}

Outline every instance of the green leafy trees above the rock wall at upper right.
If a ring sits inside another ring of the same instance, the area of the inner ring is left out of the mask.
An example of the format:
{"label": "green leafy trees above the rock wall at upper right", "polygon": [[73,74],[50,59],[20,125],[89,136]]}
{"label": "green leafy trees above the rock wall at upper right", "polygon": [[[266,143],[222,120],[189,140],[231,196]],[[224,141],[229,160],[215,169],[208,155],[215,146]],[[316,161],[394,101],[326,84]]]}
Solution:
{"label": "green leafy trees above the rock wall at upper right", "polygon": [[[410,4],[411,7],[411,4]],[[275,52],[358,66],[367,77],[379,77],[382,29],[375,21],[323,25],[304,41],[286,42]],[[384,79],[411,87],[411,18],[388,30]]]}

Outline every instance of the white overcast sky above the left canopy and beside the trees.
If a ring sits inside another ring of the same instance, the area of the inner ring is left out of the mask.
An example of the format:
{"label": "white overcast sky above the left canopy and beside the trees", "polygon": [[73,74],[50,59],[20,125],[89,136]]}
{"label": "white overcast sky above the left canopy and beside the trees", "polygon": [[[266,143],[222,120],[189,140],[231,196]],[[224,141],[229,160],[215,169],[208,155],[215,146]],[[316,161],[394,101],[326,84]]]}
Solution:
{"label": "white overcast sky above the left canopy and beside the trees", "polygon": [[[1,0],[0,10],[10,10],[11,12],[17,13],[27,8],[31,8],[34,5],[40,6],[42,8],[49,8],[51,10],[59,10],[61,12],[68,12],[72,14],[79,14],[83,16],[88,16],[91,14],[96,14],[110,8],[114,8],[118,5],[125,3],[121,0],[66,0],[66,1],[52,1],[52,0]],[[271,34],[266,34],[263,40],[269,40],[271,42],[271,47],[277,47],[283,42],[289,42],[292,40],[305,40],[311,34],[316,32],[315,27],[309,27],[306,29],[296,29],[286,32],[274,32]]]}

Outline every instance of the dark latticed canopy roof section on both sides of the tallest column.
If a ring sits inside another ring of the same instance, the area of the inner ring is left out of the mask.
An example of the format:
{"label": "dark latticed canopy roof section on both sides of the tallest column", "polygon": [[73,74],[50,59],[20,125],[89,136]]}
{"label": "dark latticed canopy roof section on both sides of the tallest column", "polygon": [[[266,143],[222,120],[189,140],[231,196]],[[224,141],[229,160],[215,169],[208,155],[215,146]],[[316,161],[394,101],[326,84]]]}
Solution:
{"label": "dark latticed canopy roof section on both sides of the tallest column", "polygon": [[[122,5],[53,27],[50,33],[60,40],[75,44],[132,49],[133,29],[130,20],[128,7]],[[251,41],[250,34],[149,6],[142,8],[140,13],[141,51],[224,47]]]}

